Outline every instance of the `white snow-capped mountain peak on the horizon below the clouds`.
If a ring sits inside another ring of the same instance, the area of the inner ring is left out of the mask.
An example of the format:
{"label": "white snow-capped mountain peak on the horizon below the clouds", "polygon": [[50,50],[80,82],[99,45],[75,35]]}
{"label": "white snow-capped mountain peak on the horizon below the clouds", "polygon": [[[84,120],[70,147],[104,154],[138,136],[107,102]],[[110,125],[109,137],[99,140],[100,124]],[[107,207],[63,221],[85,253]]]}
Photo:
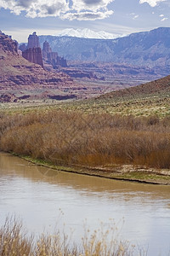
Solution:
{"label": "white snow-capped mountain peak on the horizon below the clouds", "polygon": [[56,34],[59,37],[74,37],[74,38],[98,38],[98,39],[115,39],[121,38],[121,34],[112,34],[105,31],[94,32],[88,28],[84,29],[73,29],[73,28],[66,28],[62,32]]}

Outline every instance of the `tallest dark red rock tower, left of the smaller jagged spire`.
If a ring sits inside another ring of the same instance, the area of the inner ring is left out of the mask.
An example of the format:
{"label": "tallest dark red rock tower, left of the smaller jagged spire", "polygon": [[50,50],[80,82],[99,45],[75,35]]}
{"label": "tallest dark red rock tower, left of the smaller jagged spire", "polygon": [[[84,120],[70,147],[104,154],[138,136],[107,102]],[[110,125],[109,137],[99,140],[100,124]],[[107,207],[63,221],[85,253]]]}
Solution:
{"label": "tallest dark red rock tower, left of the smaller jagged spire", "polygon": [[36,32],[28,38],[27,49],[22,51],[22,56],[32,63],[38,64],[43,67],[42,49],[40,48],[39,39]]}

